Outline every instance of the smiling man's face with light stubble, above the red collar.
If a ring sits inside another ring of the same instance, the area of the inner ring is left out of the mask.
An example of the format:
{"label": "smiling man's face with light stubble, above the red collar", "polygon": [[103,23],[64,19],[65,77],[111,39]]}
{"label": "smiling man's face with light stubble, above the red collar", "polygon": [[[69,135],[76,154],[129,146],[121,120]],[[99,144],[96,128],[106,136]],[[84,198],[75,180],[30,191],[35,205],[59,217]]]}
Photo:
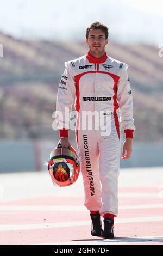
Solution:
{"label": "smiling man's face with light stubble, above the red collar", "polygon": [[89,31],[88,39],[85,39],[90,51],[93,53],[101,53],[105,50],[105,45],[108,44],[108,39],[105,39],[105,33],[101,29],[92,29]]}

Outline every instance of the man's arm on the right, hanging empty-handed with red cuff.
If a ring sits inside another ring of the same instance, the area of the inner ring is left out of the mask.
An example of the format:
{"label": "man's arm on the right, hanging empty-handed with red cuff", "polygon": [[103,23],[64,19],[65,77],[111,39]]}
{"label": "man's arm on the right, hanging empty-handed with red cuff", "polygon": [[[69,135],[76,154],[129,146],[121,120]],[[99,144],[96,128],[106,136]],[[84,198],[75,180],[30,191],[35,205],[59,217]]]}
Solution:
{"label": "man's arm on the right, hanging empty-handed with red cuff", "polygon": [[126,133],[126,141],[123,143],[122,159],[128,159],[132,152],[133,132],[135,131],[133,119],[133,96],[127,74],[128,65],[124,64],[122,75],[117,84],[117,100],[120,106],[120,123]]}

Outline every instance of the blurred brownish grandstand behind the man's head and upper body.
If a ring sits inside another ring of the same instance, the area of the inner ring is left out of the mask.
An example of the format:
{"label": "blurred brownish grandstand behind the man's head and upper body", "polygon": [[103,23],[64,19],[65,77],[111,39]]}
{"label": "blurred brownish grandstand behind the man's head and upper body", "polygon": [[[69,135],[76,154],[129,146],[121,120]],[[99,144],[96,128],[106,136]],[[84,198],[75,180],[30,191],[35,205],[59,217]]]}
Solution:
{"label": "blurred brownish grandstand behind the man's head and upper body", "polygon": [[[52,139],[52,113],[64,62],[84,55],[84,42],[25,41],[0,33],[0,138]],[[129,64],[137,141],[162,142],[163,59],[151,45],[117,44],[108,55]]]}

